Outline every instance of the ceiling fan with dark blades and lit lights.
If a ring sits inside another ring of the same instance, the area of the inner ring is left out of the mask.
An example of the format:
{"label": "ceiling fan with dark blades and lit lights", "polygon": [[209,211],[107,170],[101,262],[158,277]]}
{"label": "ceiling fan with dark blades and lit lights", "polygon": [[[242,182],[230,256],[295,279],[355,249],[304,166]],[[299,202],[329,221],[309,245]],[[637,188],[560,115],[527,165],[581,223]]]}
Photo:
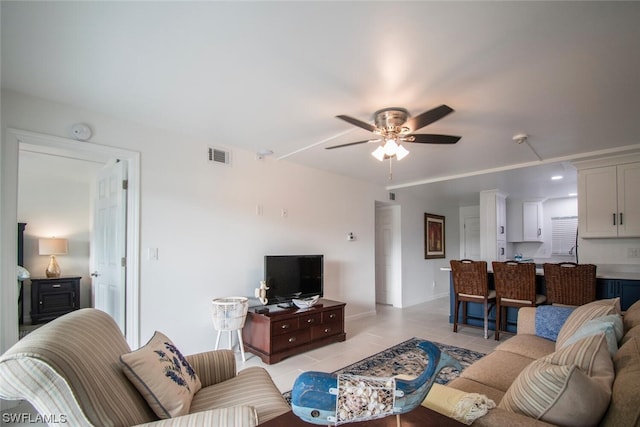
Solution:
{"label": "ceiling fan with dark blades and lit lights", "polygon": [[409,112],[404,108],[383,108],[382,110],[378,110],[373,113],[375,124],[363,122],[362,120],[358,120],[350,116],[336,116],[347,123],[351,123],[354,126],[373,132],[378,137],[365,141],[334,145],[332,147],[326,147],[326,149],[333,150],[334,148],[349,147],[351,145],[364,144],[366,142],[384,142],[383,145],[378,146],[378,148],[371,153],[376,159],[382,161],[385,159],[392,159],[393,157],[400,160],[409,154],[409,151],[400,145],[402,142],[418,144],[455,144],[461,137],[414,133],[418,129],[440,120],[452,112],[453,109],[444,104],[425,111],[422,114],[418,114],[415,117],[411,117]]}

